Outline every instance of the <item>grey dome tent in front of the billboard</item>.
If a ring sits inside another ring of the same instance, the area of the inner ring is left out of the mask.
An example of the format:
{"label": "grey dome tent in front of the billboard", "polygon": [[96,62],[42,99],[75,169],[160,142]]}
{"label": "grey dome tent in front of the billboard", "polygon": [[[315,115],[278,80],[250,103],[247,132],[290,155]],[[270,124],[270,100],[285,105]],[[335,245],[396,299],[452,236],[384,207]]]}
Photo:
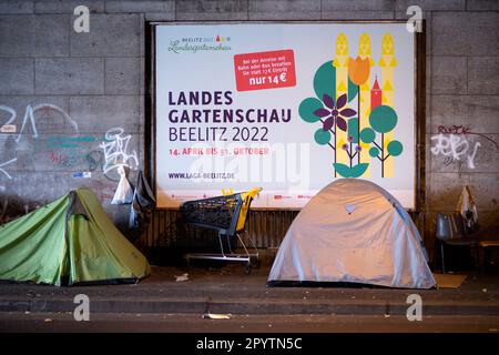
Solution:
{"label": "grey dome tent in front of the billboard", "polygon": [[408,213],[383,187],[359,179],[330,183],[299,212],[268,276],[271,285],[279,281],[436,285]]}

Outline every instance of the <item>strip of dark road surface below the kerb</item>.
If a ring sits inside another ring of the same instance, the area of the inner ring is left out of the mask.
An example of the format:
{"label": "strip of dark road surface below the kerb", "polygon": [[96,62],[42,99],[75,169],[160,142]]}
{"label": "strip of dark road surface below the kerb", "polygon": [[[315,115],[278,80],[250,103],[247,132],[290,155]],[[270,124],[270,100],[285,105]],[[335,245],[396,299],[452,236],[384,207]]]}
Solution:
{"label": "strip of dark road surface below the kerb", "polygon": [[195,314],[99,313],[75,322],[72,313],[0,313],[6,333],[491,333],[499,334],[499,316],[434,316],[409,322],[383,315],[231,315],[228,320]]}

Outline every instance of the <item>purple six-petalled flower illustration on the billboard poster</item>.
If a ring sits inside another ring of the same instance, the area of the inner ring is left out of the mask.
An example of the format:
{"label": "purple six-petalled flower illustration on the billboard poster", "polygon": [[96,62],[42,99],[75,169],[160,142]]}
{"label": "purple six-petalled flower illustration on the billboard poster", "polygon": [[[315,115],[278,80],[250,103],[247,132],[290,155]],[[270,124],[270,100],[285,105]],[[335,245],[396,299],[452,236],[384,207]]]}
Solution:
{"label": "purple six-petalled flower illustration on the billboard poster", "polygon": [[323,95],[323,102],[326,105],[327,109],[317,109],[314,111],[314,114],[320,119],[324,119],[323,121],[323,130],[328,131],[335,125],[338,126],[342,131],[346,132],[347,130],[347,123],[346,119],[353,118],[355,114],[357,114],[357,111],[345,108],[347,103],[347,95],[344,93],[338,98],[335,104],[335,100],[327,95]]}

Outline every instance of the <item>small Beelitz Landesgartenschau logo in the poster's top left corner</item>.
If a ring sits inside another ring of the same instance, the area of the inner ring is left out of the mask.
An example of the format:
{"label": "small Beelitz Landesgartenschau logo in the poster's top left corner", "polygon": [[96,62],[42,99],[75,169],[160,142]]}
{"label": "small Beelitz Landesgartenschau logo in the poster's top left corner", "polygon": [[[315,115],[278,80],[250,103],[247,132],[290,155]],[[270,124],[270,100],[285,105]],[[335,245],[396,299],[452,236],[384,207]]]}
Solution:
{"label": "small Beelitz Landesgartenschau logo in the poster's top left corner", "polygon": [[230,51],[231,38],[223,36],[215,37],[183,37],[170,41],[169,52],[180,54],[181,52],[191,52],[195,54],[198,51]]}

